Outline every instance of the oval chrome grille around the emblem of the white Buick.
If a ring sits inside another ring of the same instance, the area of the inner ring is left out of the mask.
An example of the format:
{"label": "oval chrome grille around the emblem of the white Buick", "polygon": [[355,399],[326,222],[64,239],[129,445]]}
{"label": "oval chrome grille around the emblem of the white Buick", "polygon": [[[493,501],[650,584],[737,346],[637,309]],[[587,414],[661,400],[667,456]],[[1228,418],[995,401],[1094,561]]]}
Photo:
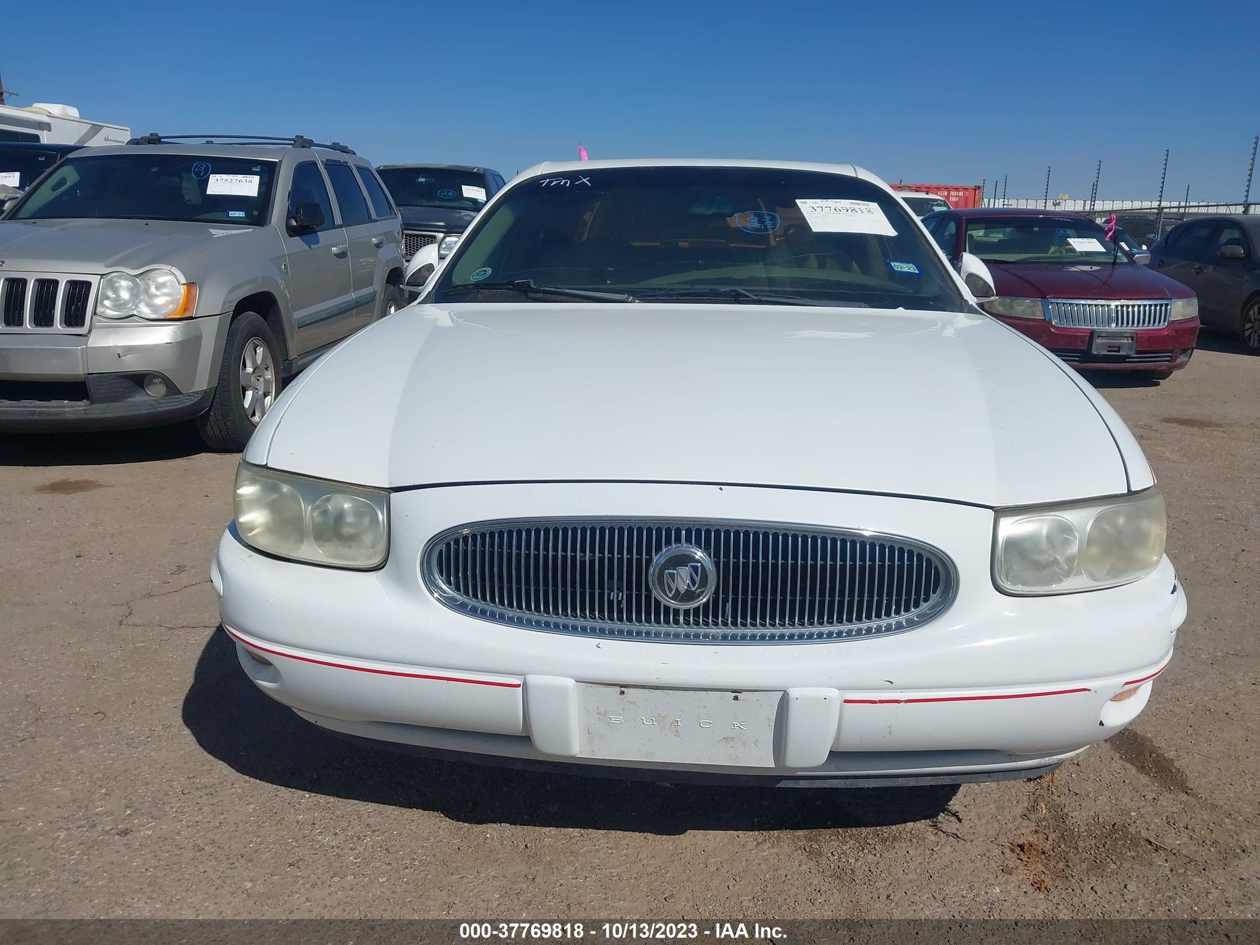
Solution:
{"label": "oval chrome grille around the emblem of the white Buick", "polygon": [[[679,610],[651,592],[656,553],[704,551],[717,588]],[[678,520],[489,522],[425,552],[446,606],[500,624],[667,643],[808,643],[917,626],[953,600],[940,551],[893,536],[794,525]]]}

